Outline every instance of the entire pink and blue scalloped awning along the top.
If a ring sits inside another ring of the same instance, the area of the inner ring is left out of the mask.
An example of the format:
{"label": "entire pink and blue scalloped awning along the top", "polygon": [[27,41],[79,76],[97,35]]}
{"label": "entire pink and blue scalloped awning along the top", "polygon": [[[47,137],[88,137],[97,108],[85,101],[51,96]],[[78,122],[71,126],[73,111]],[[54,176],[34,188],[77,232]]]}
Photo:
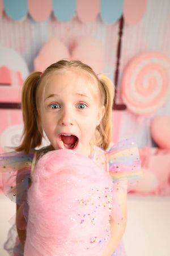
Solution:
{"label": "entire pink and blue scalloped awning along the top", "polygon": [[138,23],[146,11],[147,0],[0,0],[0,15],[5,11],[13,20],[28,14],[36,22],[54,15],[60,22],[75,16],[83,23],[93,22],[98,15],[105,23],[115,23],[122,15],[129,24]]}

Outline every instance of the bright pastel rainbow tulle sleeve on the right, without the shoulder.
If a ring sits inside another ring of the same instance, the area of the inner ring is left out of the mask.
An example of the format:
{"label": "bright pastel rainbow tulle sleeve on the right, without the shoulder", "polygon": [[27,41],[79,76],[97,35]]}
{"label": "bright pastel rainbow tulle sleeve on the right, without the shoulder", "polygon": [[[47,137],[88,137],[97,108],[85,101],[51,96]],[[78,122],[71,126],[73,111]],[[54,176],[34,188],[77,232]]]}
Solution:
{"label": "bright pastel rainbow tulle sleeve on the right, without the shoulder", "polygon": [[133,138],[126,139],[111,147],[107,152],[108,172],[113,183],[125,181],[128,191],[142,177],[141,160],[137,144]]}

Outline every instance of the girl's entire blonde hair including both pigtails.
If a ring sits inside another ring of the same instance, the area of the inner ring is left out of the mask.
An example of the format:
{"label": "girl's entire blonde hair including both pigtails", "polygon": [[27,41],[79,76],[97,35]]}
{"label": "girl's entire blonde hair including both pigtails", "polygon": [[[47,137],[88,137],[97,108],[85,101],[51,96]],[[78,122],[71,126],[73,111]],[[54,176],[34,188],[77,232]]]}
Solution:
{"label": "girl's entire blonde hair including both pigtails", "polygon": [[105,106],[105,113],[96,127],[96,145],[103,149],[108,148],[111,142],[111,115],[114,97],[111,80],[104,74],[97,76],[91,67],[79,60],[60,60],[46,68],[43,73],[31,73],[24,82],[22,89],[23,140],[20,146],[16,147],[17,151],[29,152],[31,148],[41,146],[43,132],[38,106],[40,98],[43,97],[44,88],[52,74],[75,69],[86,72],[99,85],[100,103]]}

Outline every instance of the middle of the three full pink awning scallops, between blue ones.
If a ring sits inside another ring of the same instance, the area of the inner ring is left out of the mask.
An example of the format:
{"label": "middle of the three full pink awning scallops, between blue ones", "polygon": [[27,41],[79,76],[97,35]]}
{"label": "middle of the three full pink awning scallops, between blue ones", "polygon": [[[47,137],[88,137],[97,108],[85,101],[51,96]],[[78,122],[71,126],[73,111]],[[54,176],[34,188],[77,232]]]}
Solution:
{"label": "middle of the three full pink awning scallops, between blue ones", "polygon": [[76,14],[84,22],[93,22],[100,12],[100,0],[76,0]]}

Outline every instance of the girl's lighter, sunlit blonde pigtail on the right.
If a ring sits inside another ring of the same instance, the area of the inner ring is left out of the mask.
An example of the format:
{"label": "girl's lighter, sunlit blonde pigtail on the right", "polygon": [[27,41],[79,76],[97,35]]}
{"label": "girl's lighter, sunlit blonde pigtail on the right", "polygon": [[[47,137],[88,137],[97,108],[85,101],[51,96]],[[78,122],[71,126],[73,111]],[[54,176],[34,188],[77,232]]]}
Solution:
{"label": "girl's lighter, sunlit blonde pigtail on the right", "polygon": [[106,150],[109,147],[112,137],[112,106],[114,98],[114,86],[112,81],[104,74],[97,76],[99,78],[100,90],[103,90],[105,113],[101,119],[97,130],[97,146]]}

